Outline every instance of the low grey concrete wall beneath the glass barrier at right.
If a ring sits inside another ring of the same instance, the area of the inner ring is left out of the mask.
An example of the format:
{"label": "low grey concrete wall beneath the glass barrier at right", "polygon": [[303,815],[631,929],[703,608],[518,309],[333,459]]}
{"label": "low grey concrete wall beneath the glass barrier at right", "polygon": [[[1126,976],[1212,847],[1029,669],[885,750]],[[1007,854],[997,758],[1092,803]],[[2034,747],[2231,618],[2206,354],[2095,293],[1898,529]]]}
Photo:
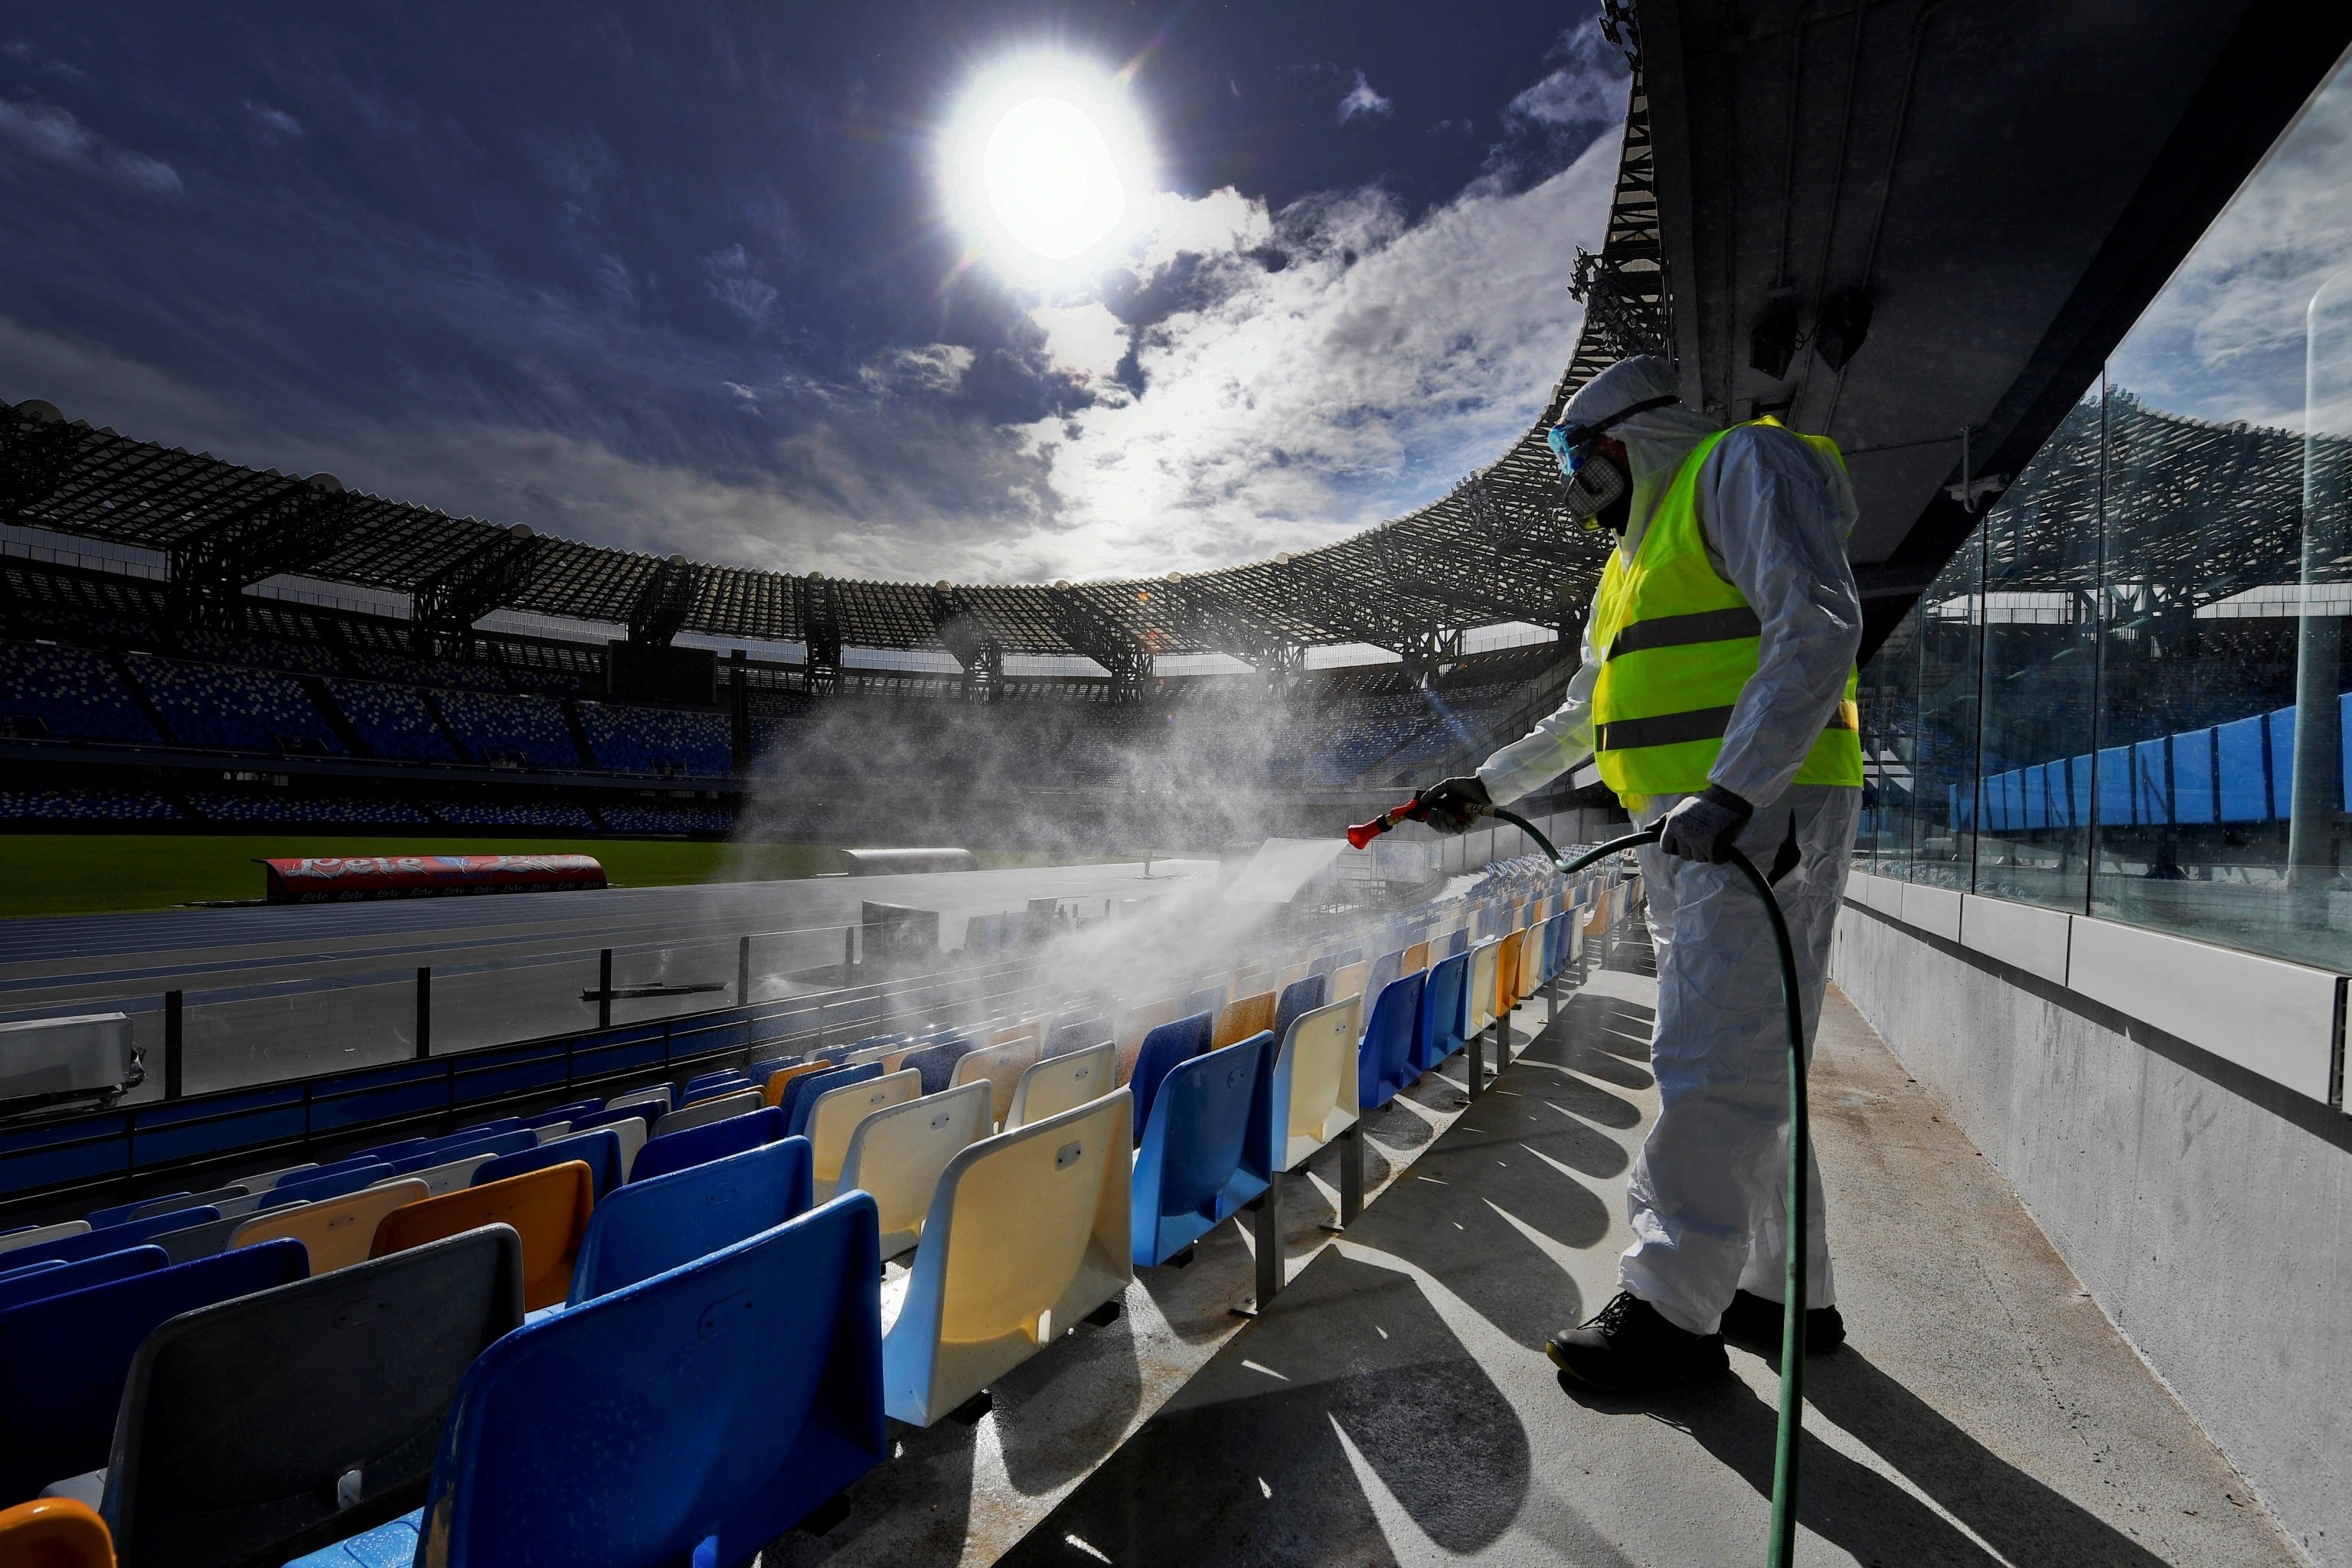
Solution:
{"label": "low grey concrete wall beneath the glass barrier at right", "polygon": [[1830,973],[2281,1526],[2352,1566],[2352,1121],[1860,903]]}

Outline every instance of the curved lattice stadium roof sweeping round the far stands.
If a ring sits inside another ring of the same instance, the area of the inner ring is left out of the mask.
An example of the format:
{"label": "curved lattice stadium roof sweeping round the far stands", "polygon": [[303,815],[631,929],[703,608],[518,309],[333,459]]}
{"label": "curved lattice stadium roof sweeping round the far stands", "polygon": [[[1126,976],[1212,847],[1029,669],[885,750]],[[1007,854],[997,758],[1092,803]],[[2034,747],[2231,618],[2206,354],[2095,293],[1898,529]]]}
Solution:
{"label": "curved lattice stadium roof sweeping round the far stands", "polygon": [[332,477],[238,468],[0,404],[0,517],[158,550],[193,609],[233,604],[278,574],[412,595],[421,625],[463,635],[494,609],[677,632],[802,642],[811,668],[842,646],[946,649],[967,668],[1007,654],[1077,654],[1141,684],[1162,654],[1289,668],[1315,644],[1364,642],[1423,663],[1477,625],[1583,618],[1604,559],[1559,505],[1543,430],[1595,371],[1670,334],[1651,179],[1649,101],[1630,14],[1611,38],[1635,68],[1616,197],[1599,254],[1564,280],[1585,301],[1576,355],[1543,416],[1491,468],[1437,501],[1331,545],[1150,581],[924,585],[659,557],[449,517]]}

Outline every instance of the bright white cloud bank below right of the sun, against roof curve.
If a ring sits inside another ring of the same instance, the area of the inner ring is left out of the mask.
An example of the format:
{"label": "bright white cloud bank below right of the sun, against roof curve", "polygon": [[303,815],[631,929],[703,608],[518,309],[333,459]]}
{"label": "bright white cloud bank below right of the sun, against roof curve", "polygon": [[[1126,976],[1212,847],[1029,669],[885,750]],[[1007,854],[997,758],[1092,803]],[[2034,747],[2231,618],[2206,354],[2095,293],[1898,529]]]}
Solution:
{"label": "bright white cloud bank below right of the sun, against roof curve", "polygon": [[1272,221],[1282,270],[1209,263],[1141,331],[1138,397],[1028,428],[1051,508],[997,555],[1056,576],[1221,567],[1341,538],[1484,468],[1541,411],[1583,320],[1559,259],[1597,244],[1616,143],[1406,226],[1352,190]]}

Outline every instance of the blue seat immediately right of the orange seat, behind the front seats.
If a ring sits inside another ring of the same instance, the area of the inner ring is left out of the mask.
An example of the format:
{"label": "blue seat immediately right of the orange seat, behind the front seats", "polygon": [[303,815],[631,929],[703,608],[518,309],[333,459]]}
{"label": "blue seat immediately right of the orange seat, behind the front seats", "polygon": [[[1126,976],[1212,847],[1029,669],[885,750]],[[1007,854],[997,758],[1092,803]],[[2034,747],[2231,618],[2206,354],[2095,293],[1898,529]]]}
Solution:
{"label": "blue seat immediately right of the orange seat, behind the front seats", "polygon": [[694,1262],[804,1215],[811,1204],[807,1138],[779,1138],[630,1182],[588,1215],[569,1302]]}

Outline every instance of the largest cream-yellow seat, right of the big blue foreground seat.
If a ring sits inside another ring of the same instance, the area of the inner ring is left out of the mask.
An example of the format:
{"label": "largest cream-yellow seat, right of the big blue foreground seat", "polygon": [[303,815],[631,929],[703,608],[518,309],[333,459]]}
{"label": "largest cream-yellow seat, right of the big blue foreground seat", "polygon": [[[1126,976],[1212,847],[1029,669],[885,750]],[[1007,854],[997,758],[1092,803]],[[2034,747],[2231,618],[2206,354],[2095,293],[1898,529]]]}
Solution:
{"label": "largest cream-yellow seat, right of the big blue foreground seat", "polygon": [[1134,1100],[1115,1091],[948,1161],[882,1342],[894,1418],[929,1427],[1120,1298],[1131,1128]]}

